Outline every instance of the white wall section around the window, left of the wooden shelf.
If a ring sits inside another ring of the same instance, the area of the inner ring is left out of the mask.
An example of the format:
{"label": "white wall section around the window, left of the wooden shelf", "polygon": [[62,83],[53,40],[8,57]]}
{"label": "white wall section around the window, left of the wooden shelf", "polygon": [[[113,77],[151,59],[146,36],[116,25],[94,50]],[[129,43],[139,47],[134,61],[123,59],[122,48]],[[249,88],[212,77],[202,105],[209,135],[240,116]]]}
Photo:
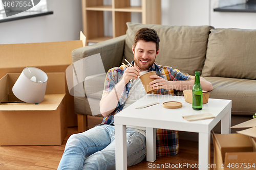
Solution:
{"label": "white wall section around the window, left of the wooden shelf", "polygon": [[81,1],[47,1],[51,15],[0,23],[0,44],[79,40]]}

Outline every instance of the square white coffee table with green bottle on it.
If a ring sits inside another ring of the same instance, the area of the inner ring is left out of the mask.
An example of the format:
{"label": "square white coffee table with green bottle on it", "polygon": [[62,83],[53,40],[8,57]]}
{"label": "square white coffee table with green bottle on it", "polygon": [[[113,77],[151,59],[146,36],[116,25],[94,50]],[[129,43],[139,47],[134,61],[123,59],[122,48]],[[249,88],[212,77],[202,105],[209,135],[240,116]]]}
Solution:
{"label": "square white coffee table with green bottle on it", "polygon": [[[182,103],[182,108],[166,109],[167,101]],[[136,109],[137,107],[159,102],[159,104]],[[188,122],[183,115],[211,113],[215,118]],[[199,133],[199,169],[207,169],[210,164],[210,131],[221,121],[221,133],[230,133],[231,100],[209,99],[203,109],[196,111],[185,102],[183,96],[146,94],[131,106],[115,115],[116,169],[127,169],[126,125],[146,127],[146,160],[156,160],[155,128]],[[182,163],[182,162],[181,162]]]}

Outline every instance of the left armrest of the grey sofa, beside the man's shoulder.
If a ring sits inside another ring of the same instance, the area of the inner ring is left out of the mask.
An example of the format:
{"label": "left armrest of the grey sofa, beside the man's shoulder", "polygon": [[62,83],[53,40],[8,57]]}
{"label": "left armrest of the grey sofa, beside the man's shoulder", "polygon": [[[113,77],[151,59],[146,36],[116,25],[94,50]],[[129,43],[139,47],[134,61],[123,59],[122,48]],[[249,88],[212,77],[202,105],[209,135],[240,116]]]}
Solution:
{"label": "left armrest of the grey sofa, beside the man's shoulder", "polygon": [[[100,57],[101,57],[105,72],[107,72],[110,68],[119,67],[121,65],[121,61],[123,58],[125,37],[126,35],[123,35],[123,36],[102,41],[93,45],[77,48],[72,52],[72,61],[73,63],[75,63],[81,59],[87,60],[88,58],[86,57],[100,53]],[[94,74],[95,76],[95,74],[102,74],[104,72],[103,68],[101,69],[102,65],[99,64],[101,62],[88,63],[86,60],[82,61],[83,64],[81,69],[75,69],[76,74],[79,75],[78,77],[80,81],[84,81],[84,78],[89,78],[90,76],[93,76],[92,74]],[[98,58],[96,60],[98,60]],[[95,70],[92,72],[88,71],[88,69],[91,70],[94,68],[99,68],[99,69],[97,71]],[[82,72],[78,74],[77,71],[82,71]],[[103,80],[104,80],[104,77],[102,78]],[[95,77],[95,79],[100,79],[100,77],[98,78]],[[77,81],[77,80],[74,79],[74,81]],[[86,84],[86,85],[90,88],[90,84],[89,85]],[[99,83],[97,82],[97,87],[98,86],[99,86]],[[94,89],[94,92],[95,90],[96,92],[103,90],[104,85],[102,84],[102,89],[100,88]],[[96,116],[102,117],[99,110],[100,99],[99,98],[96,99],[94,97],[93,98],[88,97],[86,94],[86,91],[84,90],[86,90],[86,87],[84,87],[84,83],[81,83],[81,82],[79,82],[79,84],[74,87],[75,94],[84,93],[84,96],[74,95],[75,113],[81,114],[81,115],[96,115]],[[90,92],[91,91],[89,91],[88,94],[90,94]]]}

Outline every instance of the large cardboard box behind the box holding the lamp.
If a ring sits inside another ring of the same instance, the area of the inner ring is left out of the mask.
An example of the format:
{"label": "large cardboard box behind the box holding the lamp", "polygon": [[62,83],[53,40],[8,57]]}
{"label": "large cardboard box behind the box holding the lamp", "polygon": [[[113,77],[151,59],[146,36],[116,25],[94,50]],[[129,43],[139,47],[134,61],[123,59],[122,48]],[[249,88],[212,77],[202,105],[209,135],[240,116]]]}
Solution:
{"label": "large cardboard box behind the box holding the lamp", "polygon": [[[0,78],[7,73],[21,73],[29,66],[45,72],[66,72],[66,68],[72,64],[72,51],[82,46],[82,40],[0,44]],[[65,83],[68,127],[77,126],[74,96],[69,94],[67,82]]]}

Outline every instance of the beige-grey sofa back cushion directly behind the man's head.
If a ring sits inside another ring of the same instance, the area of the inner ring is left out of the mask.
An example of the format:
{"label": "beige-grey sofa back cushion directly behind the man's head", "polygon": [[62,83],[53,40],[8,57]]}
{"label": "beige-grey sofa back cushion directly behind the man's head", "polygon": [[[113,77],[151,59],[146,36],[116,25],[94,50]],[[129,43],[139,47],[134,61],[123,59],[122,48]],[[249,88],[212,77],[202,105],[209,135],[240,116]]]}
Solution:
{"label": "beige-grey sofa back cushion directly behind the man's head", "polygon": [[156,63],[177,68],[182,72],[195,75],[202,71],[210,26],[162,26],[127,22],[124,57],[132,61],[132,46],[136,32],[144,27],[157,31],[160,38],[160,53]]}

